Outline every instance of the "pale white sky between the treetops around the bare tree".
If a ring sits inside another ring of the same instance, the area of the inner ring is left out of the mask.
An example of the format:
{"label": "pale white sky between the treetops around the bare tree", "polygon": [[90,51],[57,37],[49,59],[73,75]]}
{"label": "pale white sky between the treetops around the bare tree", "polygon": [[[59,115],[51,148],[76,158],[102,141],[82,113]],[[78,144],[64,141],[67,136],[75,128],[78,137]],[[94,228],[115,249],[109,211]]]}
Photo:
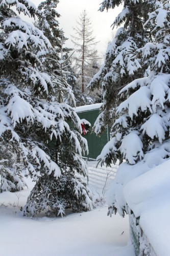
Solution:
{"label": "pale white sky between the treetops around the bare tree", "polygon": [[[32,0],[38,5],[41,0]],[[106,52],[107,44],[112,39],[116,30],[112,30],[111,25],[122,7],[115,10],[105,10],[100,12],[99,7],[102,0],[61,0],[57,6],[57,11],[61,15],[58,19],[60,28],[63,29],[65,36],[68,38],[67,47],[73,47],[70,35],[74,35],[73,27],[76,27],[76,20],[79,20],[80,13],[86,10],[91,19],[93,27],[93,36],[99,41],[97,49],[103,56]]]}

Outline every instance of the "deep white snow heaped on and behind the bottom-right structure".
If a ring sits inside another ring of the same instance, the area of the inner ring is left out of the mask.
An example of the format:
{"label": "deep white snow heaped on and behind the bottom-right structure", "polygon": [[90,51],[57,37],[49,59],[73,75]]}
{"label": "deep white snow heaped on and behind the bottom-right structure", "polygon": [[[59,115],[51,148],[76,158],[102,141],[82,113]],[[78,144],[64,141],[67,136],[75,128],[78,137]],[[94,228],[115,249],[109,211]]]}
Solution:
{"label": "deep white snow heaped on and behind the bottom-right structure", "polygon": [[[169,143],[166,144],[169,146]],[[159,151],[153,150],[152,158],[146,157],[146,154],[135,165],[120,164],[107,190],[107,204],[114,205],[120,215],[123,214],[123,207],[128,206],[134,216],[139,217],[143,239],[148,239],[143,244],[149,241],[157,256],[169,256],[170,160],[161,159],[161,151],[161,147]]]}

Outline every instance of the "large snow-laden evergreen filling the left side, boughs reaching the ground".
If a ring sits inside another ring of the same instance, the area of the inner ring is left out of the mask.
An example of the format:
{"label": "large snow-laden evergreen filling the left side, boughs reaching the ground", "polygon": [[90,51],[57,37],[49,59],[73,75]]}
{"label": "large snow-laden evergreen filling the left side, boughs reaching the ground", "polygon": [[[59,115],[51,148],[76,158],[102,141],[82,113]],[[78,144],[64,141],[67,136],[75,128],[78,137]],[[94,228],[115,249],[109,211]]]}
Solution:
{"label": "large snow-laden evergreen filling the left side, boughs reaching the ground", "polygon": [[[54,77],[43,65],[46,56],[56,51],[42,31],[23,22],[12,6],[30,17],[37,15],[45,24],[47,18],[29,0],[0,2],[1,142],[8,155],[16,152],[15,165],[8,167],[12,175],[17,174],[15,168],[25,168],[36,181],[23,213],[33,216],[46,209],[49,214],[63,216],[66,207],[89,210],[90,191],[75,177],[76,172],[87,175],[81,154],[88,148],[80,134],[80,119],[73,108],[56,101]],[[71,122],[77,131],[70,128]],[[5,155],[4,150],[1,169],[9,175]],[[16,187],[21,186],[19,176],[14,178]],[[15,185],[3,184],[6,187],[1,190]]]}

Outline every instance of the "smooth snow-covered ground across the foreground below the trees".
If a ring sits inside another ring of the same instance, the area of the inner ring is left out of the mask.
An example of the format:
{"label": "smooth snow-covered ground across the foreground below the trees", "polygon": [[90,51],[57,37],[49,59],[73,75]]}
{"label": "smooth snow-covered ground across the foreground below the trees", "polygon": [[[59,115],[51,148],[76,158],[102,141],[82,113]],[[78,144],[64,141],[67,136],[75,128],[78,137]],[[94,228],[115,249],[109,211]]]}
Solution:
{"label": "smooth snow-covered ground across the foreground below the trees", "polygon": [[135,255],[127,245],[128,216],[107,217],[107,206],[99,204],[93,211],[65,218],[23,217],[19,208],[30,189],[0,194],[1,256]]}

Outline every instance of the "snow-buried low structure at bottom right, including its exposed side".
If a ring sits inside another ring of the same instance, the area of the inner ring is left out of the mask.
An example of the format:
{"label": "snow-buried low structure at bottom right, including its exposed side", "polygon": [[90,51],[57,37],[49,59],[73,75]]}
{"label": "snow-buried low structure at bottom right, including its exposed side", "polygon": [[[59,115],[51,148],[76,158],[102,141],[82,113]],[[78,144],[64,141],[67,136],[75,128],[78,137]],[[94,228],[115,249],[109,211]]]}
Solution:
{"label": "snow-buried low structure at bottom right, including its exposed side", "polygon": [[108,192],[107,203],[112,205],[115,198],[114,206],[129,214],[136,255],[170,255],[169,166],[170,160],[150,169],[123,163]]}

